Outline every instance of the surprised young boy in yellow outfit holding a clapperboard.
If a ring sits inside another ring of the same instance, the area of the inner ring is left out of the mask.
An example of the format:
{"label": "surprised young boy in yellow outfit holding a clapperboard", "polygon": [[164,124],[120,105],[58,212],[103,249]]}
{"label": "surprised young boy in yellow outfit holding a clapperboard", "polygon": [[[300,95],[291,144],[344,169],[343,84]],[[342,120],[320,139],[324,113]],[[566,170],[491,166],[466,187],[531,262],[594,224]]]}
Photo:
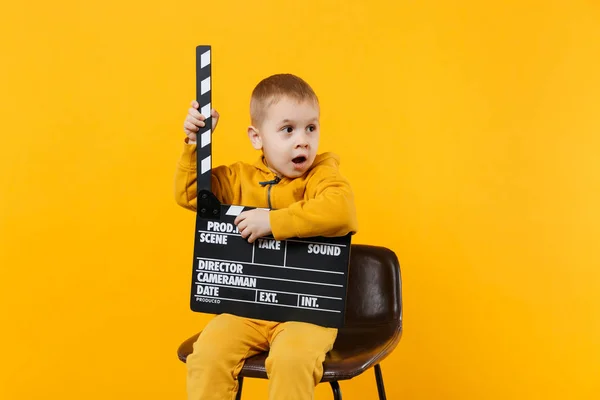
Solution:
{"label": "surprised young boy in yellow outfit holding a clapperboard", "polygon": [[[211,115],[214,131],[219,114]],[[252,92],[250,117],[248,137],[262,150],[260,158],[212,170],[212,191],[222,203],[271,209],[241,213],[235,224],[242,237],[252,243],[270,234],[285,240],[356,232],[354,197],[338,171],[339,158],[317,155],[319,102],[312,88],[294,75],[268,77]],[[191,210],[197,204],[196,132],[204,120],[192,102],[175,177],[177,203]],[[217,315],[187,358],[188,399],[235,399],[244,360],[262,351],[269,351],[269,399],[312,399],[336,335],[336,329],[309,323]]]}

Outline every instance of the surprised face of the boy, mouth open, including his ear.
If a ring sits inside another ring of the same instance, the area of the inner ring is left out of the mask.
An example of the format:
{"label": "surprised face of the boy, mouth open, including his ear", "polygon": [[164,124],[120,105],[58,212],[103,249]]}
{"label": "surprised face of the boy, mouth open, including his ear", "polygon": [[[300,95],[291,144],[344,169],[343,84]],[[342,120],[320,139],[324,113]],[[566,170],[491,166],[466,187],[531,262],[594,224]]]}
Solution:
{"label": "surprised face of the boy, mouth open, including his ear", "polygon": [[248,134],[262,149],[267,165],[280,177],[298,178],[311,167],[319,147],[319,106],[282,97]]}

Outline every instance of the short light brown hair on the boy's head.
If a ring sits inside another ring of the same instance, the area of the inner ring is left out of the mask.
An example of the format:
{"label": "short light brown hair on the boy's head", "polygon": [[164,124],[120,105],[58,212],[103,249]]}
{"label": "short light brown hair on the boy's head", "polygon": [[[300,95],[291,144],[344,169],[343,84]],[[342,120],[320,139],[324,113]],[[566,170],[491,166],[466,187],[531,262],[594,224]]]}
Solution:
{"label": "short light brown hair on the boy's head", "polygon": [[260,125],[267,109],[281,97],[290,97],[299,102],[312,101],[316,106],[319,99],[310,85],[292,74],[276,74],[263,79],[252,91],[250,98],[250,119],[252,125]]}

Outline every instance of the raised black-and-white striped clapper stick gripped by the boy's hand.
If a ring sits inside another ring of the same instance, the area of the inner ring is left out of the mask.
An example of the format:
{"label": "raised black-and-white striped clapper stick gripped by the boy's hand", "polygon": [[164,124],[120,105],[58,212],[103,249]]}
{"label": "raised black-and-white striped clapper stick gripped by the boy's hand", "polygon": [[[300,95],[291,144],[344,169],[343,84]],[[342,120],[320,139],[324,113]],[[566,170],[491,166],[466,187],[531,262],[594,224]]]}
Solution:
{"label": "raised black-and-white striped clapper stick gripped by the boy's hand", "polygon": [[200,114],[206,117],[204,128],[197,134],[198,163],[198,216],[218,219],[221,204],[211,191],[212,170],[212,117],[210,115],[211,96],[211,55],[210,46],[196,47],[196,100],[200,104]]}

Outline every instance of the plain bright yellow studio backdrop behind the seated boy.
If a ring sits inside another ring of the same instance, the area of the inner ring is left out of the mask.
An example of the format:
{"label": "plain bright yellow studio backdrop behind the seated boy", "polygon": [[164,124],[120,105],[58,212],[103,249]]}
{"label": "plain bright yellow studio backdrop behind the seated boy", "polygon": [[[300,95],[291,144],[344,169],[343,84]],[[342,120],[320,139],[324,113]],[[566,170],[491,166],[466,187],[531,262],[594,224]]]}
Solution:
{"label": "plain bright yellow studio backdrop behind the seated boy", "polygon": [[[256,157],[260,79],[317,91],[322,150],[356,190],[355,243],[402,263],[388,398],[600,398],[597,1],[0,14],[0,399],[185,398],[175,350],[208,316],[188,309],[194,214],[172,178],[198,44],[214,46],[216,163]],[[374,398],[372,371],[342,389]]]}

